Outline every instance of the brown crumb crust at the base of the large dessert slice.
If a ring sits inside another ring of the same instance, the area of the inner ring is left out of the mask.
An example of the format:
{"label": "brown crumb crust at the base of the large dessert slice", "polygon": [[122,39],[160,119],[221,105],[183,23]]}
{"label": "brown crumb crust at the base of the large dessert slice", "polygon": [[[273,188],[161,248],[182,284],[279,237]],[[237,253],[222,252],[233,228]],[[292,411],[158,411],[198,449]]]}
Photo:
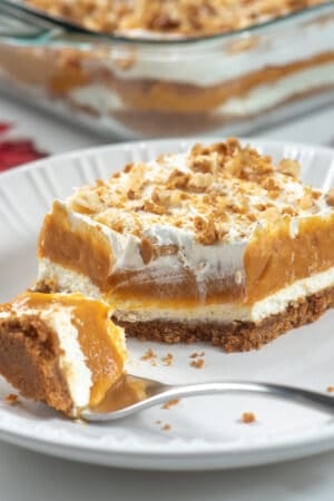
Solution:
{"label": "brown crumb crust at the base of the large dessert slice", "polygon": [[125,327],[126,334],[143,341],[163,343],[210,342],[225,352],[258,350],[266,343],[292,328],[315,322],[326,310],[334,306],[334,287],[292,303],[284,313],[259,322],[180,323],[180,322],[114,322]]}

